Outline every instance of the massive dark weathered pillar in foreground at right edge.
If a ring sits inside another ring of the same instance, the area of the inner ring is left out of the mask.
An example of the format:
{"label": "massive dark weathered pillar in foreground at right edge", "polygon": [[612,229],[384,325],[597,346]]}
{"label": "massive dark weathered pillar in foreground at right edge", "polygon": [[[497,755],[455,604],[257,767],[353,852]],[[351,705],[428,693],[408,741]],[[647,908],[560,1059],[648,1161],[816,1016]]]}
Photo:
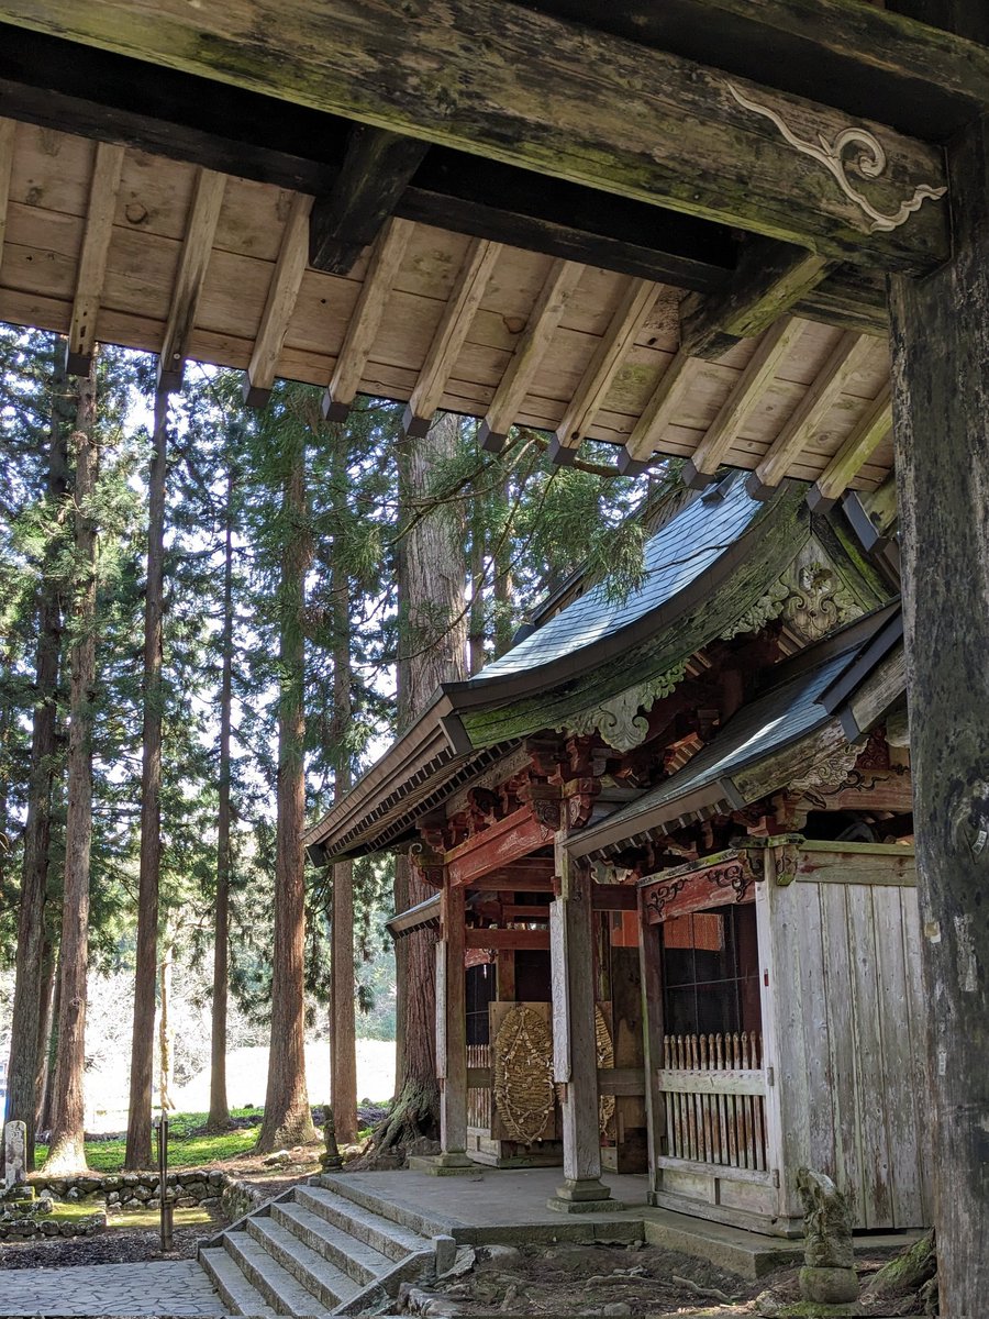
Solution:
{"label": "massive dark weathered pillar in foreground at right edge", "polygon": [[940,1312],[989,1294],[989,124],[948,149],[953,256],[890,286]]}

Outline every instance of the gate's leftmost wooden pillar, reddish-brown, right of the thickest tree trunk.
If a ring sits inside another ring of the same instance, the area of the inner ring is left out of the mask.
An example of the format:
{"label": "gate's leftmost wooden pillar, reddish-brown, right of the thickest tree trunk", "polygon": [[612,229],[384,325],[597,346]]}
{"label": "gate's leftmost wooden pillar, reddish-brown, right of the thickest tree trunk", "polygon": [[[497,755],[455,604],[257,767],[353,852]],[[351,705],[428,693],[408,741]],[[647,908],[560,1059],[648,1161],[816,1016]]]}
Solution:
{"label": "gate's leftmost wooden pillar, reddish-brown, right of the thickest tree trunk", "polygon": [[439,1146],[436,1173],[469,1171],[467,1158],[467,973],[464,890],[443,888],[442,938],[436,944],[436,1071]]}

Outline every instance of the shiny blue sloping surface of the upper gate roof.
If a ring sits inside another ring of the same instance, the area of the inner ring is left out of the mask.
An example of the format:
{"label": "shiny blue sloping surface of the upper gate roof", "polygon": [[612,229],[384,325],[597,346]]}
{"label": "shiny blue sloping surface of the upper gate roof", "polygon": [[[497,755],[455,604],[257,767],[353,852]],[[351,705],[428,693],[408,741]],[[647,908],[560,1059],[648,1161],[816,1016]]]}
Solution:
{"label": "shiny blue sloping surface of the upper gate roof", "polygon": [[752,499],[745,489],[745,475],[733,472],[719,488],[721,497],[695,499],[657,532],[645,549],[646,579],[626,600],[611,600],[604,587],[593,587],[500,660],[485,665],[468,686],[477,689],[488,679],[553,663],[621,632],[673,600],[771,506],[771,501]]}

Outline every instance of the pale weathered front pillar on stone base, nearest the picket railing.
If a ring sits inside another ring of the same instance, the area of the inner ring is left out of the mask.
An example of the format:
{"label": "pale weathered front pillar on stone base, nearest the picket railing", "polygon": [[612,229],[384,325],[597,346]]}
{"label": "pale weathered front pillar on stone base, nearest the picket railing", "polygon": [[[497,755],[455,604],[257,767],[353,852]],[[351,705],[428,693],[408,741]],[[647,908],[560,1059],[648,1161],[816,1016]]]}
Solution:
{"label": "pale weathered front pillar on stone base, nearest the picket railing", "polygon": [[564,840],[562,830],[556,834],[560,896],[550,906],[553,1072],[560,1087],[564,1181],[547,1203],[563,1213],[595,1213],[621,1206],[601,1182],[592,880],[570,861]]}

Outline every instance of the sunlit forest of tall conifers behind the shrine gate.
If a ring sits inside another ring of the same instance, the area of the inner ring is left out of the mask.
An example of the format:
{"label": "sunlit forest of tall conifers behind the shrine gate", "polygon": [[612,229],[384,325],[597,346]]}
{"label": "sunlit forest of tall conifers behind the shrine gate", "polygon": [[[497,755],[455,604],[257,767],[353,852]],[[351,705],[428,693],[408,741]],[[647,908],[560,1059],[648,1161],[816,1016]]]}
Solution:
{"label": "sunlit forest of tall conifers behind the shrine gate", "polygon": [[327,1097],[303,1034],[352,1055],[356,1014],[398,1034],[400,1088],[429,1072],[384,931],[407,874],[315,869],[302,828],[574,572],[626,592],[674,484],[607,446],[554,467],[535,431],[488,454],[452,415],[411,439],[381,400],[327,422],[301,385],[253,410],[194,364],[165,396],[156,367],[74,377],[0,326],[0,1067],[65,1165],[87,1078],[90,1113],[129,1084],[140,1166],[161,1083],[208,1068],[223,1125],[239,1047],[270,1047],[268,1148]]}

